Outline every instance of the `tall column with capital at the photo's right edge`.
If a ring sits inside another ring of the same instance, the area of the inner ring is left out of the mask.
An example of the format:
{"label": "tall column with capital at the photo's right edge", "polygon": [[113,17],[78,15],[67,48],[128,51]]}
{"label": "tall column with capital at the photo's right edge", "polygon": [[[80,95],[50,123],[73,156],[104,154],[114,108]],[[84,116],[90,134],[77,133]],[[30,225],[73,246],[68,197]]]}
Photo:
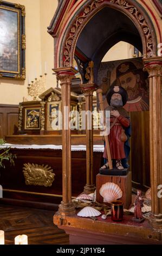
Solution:
{"label": "tall column with capital at the photo's right edge", "polygon": [[150,222],[153,228],[162,229],[162,198],[158,186],[162,185],[162,121],[161,121],[161,85],[162,58],[144,59],[145,70],[150,83],[150,172],[152,214]]}

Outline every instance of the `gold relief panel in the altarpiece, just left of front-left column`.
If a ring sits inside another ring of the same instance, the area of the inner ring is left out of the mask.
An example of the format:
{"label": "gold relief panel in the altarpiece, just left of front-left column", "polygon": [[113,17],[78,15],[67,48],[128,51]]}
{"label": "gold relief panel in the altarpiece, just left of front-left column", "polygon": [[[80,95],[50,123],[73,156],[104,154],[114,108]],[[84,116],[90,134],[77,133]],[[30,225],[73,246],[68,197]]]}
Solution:
{"label": "gold relief panel in the altarpiece, just left of front-left column", "polygon": [[61,101],[47,103],[47,130],[61,130]]}

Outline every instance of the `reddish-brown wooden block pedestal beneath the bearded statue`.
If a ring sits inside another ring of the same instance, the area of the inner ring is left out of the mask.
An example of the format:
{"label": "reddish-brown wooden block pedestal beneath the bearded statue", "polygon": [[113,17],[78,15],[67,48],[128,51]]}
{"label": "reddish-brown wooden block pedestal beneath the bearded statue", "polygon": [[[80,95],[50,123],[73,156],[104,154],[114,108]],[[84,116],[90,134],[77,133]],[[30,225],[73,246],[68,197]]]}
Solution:
{"label": "reddish-brown wooden block pedestal beneath the bearded statue", "polygon": [[122,190],[122,198],[120,200],[124,203],[124,208],[129,209],[132,203],[132,173],[128,172],[126,176],[112,176],[112,175],[96,175],[96,201],[103,203],[103,197],[100,195],[100,188],[106,182],[114,182]]}

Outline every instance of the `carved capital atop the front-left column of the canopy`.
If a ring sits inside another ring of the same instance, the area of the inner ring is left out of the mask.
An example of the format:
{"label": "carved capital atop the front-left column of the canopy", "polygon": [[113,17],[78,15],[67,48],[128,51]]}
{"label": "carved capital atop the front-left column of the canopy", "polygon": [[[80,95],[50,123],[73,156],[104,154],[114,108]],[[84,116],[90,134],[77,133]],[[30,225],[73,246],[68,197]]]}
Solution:
{"label": "carved capital atop the front-left column of the canopy", "polygon": [[58,69],[53,69],[53,71],[57,77],[57,80],[60,80],[61,86],[63,84],[69,84],[69,83],[71,84],[72,79],[74,78],[74,75],[78,72],[73,67],[58,68]]}

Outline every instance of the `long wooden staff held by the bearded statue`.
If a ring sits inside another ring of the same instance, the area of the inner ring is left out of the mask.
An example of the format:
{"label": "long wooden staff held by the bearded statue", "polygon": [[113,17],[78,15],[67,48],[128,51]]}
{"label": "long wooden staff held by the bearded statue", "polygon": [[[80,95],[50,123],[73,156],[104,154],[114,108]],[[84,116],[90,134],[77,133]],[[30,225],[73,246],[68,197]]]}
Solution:
{"label": "long wooden staff held by the bearded statue", "polygon": [[[98,89],[97,93],[99,95],[100,110],[104,111],[102,89]],[[110,151],[109,141],[108,141],[108,136],[107,135],[105,136],[105,147],[106,147],[106,151],[107,151],[107,159],[108,159],[109,169],[113,169],[111,151]]]}

